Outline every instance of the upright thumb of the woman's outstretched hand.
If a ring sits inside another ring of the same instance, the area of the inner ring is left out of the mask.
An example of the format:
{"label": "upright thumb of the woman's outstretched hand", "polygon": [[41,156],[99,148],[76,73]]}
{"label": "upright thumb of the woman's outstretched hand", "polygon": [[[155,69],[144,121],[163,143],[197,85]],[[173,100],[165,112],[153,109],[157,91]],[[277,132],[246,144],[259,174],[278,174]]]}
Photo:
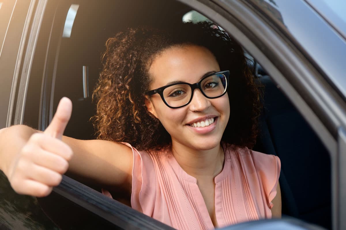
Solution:
{"label": "upright thumb of the woman's outstretched hand", "polygon": [[61,139],[66,125],[70,120],[71,113],[72,101],[67,97],[63,97],[58,104],[58,108],[56,109],[51,123],[44,133],[51,137]]}

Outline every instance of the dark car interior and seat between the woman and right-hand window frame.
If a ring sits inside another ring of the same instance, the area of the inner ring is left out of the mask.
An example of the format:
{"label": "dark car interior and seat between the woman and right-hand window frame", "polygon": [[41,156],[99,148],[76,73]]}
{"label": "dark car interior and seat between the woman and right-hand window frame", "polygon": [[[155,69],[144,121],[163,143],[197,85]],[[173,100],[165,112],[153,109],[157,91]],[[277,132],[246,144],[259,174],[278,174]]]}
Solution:
{"label": "dark car interior and seat between the woman and right-hand window frame", "polygon": [[281,160],[282,213],[330,229],[328,151],[270,77],[259,80],[264,86],[264,108],[254,150]]}

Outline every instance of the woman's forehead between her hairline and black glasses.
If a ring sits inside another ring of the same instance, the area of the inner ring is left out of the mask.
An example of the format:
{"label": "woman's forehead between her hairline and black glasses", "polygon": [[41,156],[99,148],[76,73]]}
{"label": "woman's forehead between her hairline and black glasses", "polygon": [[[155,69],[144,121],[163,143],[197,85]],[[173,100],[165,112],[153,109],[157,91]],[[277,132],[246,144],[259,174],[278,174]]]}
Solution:
{"label": "woman's forehead between her hairline and black glasses", "polygon": [[149,74],[155,89],[174,81],[198,82],[207,72],[220,71],[215,56],[205,47],[174,46],[161,52],[153,60]]}

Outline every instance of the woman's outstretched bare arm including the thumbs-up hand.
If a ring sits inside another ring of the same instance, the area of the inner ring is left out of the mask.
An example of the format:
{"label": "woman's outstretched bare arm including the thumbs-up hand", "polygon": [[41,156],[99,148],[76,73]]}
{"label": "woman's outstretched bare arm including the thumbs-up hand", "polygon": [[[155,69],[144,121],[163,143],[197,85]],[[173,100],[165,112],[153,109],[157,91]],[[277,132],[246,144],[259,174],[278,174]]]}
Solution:
{"label": "woman's outstretched bare arm including the thumbs-up hand", "polygon": [[27,126],[0,131],[0,169],[16,192],[47,196],[67,169],[105,188],[131,188],[131,149],[121,143],[62,136],[71,110],[71,101],[62,100],[44,132]]}

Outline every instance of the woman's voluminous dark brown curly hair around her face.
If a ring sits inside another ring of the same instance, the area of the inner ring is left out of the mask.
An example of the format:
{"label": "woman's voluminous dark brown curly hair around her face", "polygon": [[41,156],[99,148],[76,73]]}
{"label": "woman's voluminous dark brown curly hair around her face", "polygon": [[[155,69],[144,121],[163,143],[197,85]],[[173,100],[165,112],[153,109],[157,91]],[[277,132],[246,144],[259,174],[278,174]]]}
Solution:
{"label": "woman's voluminous dark brown curly hair around her face", "polygon": [[221,70],[230,70],[230,118],[222,140],[252,148],[261,111],[256,86],[242,47],[210,22],[181,23],[165,29],[139,27],[119,32],[106,42],[103,70],[93,92],[97,114],[93,117],[98,139],[128,142],[138,150],[161,149],[171,136],[145,106],[152,82],[149,68],[154,58],[173,46],[194,44],[209,49]]}

